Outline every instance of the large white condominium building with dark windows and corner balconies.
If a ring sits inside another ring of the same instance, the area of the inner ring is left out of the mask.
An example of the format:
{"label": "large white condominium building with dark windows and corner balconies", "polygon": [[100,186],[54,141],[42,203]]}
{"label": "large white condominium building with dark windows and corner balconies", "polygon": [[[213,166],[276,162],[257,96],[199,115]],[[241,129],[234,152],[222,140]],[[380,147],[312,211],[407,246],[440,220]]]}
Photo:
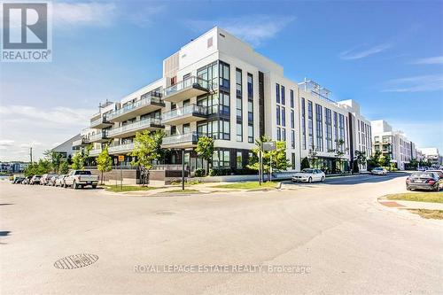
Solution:
{"label": "large white condominium building with dark windows and corner balconies", "polygon": [[352,151],[370,153],[369,124],[354,102],[340,105],[328,96],[313,81],[285,78],[282,66],[214,27],[166,58],[158,81],[101,105],[80,144],[94,144],[92,157],[110,144],[109,152],[125,155],[128,164],[136,132],[160,128],[167,134],[162,146],[171,151],[166,164],[182,163],[185,149],[192,172],[206,167],[194,151],[198,137],[212,136],[213,167],[236,172],[247,165],[255,140],[269,136],[286,142],[291,170],[313,151],[315,166],[330,172],[340,151],[340,170],[347,170]]}

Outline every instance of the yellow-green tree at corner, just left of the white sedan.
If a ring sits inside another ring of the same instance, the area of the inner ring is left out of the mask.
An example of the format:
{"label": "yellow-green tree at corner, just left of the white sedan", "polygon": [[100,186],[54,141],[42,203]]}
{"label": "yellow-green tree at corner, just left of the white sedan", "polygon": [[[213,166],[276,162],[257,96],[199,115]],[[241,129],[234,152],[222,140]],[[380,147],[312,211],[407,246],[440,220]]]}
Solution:
{"label": "yellow-green tree at corner, just left of the white sedan", "polygon": [[[249,164],[246,166],[252,170],[259,170],[259,154],[262,143],[271,142],[272,140],[268,136],[262,136],[260,139],[255,141],[255,146],[251,151],[253,151],[253,157],[249,158]],[[286,159],[286,143],[282,141],[276,142],[275,151],[262,151],[263,159],[263,172],[268,174],[268,178],[271,171],[271,159],[272,159],[272,169],[274,171],[286,170],[290,163],[289,159]]]}

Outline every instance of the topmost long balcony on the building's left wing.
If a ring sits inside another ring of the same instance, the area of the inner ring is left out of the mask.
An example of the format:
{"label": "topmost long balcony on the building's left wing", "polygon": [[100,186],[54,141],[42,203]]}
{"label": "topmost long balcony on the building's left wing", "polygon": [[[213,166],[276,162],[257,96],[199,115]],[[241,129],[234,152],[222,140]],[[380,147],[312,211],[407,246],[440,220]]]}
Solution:
{"label": "topmost long balcony on the building's left wing", "polygon": [[133,104],[125,105],[119,110],[113,111],[106,115],[106,119],[110,122],[120,122],[128,120],[144,113],[151,113],[165,107],[165,103],[161,99],[161,93],[149,92],[144,94],[140,100]]}

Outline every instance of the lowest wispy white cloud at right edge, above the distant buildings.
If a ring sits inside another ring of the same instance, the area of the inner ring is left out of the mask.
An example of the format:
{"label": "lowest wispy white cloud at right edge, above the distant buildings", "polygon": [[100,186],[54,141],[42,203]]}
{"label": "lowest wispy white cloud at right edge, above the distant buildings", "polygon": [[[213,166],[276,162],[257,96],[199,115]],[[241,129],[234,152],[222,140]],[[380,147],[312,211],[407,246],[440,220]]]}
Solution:
{"label": "lowest wispy white cloud at right edge, above the distant buildings", "polygon": [[424,92],[443,90],[443,75],[430,74],[393,79],[386,82],[383,92]]}

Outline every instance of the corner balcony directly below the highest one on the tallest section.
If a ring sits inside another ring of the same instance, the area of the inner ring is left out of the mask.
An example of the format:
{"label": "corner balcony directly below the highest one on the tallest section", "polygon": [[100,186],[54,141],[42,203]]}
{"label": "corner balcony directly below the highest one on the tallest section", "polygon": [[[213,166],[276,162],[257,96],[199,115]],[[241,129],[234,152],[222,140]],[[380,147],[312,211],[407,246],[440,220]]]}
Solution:
{"label": "corner balcony directly below the highest one on the tallest section", "polygon": [[207,107],[203,105],[186,105],[162,115],[163,124],[182,125],[199,120],[206,120]]}

